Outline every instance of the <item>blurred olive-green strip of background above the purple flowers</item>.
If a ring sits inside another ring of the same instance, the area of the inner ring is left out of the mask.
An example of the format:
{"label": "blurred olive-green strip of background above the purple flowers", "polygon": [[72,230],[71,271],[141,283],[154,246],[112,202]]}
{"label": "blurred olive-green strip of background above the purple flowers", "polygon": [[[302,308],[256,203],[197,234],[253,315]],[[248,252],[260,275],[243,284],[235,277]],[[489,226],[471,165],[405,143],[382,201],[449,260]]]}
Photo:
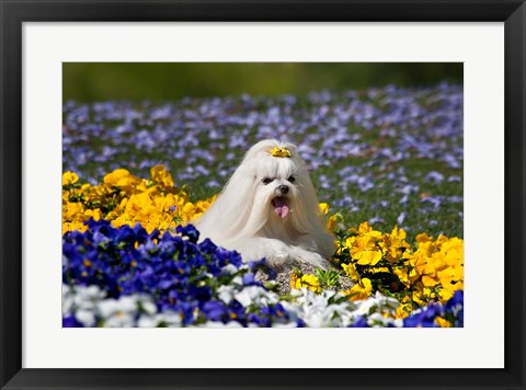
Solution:
{"label": "blurred olive-green strip of background above the purple flowers", "polygon": [[461,62],[64,62],[62,100],[152,102],[462,83]]}

